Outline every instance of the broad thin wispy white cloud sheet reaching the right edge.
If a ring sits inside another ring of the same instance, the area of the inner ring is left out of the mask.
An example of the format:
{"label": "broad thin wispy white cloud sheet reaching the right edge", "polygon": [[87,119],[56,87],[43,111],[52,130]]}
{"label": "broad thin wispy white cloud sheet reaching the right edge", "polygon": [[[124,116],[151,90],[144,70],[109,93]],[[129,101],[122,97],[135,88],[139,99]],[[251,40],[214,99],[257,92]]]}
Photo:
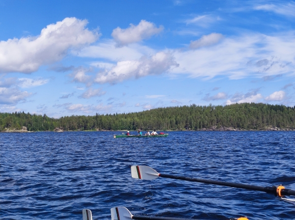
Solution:
{"label": "broad thin wispy white cloud sheet reaching the right edge", "polygon": [[211,47],[176,50],[174,57],[179,67],[171,73],[205,79],[217,75],[227,75],[230,79],[295,75],[294,39],[293,31],[276,36],[253,33],[224,38]]}

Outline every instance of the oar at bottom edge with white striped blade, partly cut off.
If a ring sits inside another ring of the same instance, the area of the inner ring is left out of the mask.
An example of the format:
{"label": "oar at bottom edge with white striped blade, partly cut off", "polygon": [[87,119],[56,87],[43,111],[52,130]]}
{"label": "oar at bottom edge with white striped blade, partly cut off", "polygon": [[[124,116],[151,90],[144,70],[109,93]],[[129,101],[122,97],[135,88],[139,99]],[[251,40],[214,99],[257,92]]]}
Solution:
{"label": "oar at bottom edge with white striped blade, partly cut off", "polygon": [[[155,216],[134,216],[125,207],[111,208],[112,220],[193,220],[193,219],[179,219],[179,218],[166,218],[166,217],[155,217]],[[232,218],[230,220],[248,220],[245,217]]]}

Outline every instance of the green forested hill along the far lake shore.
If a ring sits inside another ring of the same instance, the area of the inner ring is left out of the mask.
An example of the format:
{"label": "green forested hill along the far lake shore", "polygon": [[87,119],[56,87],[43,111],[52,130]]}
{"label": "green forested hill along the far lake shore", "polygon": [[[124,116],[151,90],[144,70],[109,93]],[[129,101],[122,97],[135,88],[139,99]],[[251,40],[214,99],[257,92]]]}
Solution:
{"label": "green forested hill along the far lake shore", "polygon": [[24,112],[0,113],[0,130],[29,131],[63,130],[202,130],[233,127],[244,130],[265,130],[269,127],[295,129],[295,107],[264,103],[231,105],[180,106],[156,108],[143,112],[95,116],[66,116],[59,119],[45,114]]}

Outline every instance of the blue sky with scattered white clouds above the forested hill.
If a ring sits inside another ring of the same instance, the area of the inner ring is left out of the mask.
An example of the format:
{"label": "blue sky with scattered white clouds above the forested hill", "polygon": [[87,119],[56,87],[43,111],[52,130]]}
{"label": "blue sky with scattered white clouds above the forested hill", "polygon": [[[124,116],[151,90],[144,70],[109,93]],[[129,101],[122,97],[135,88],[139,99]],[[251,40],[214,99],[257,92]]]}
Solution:
{"label": "blue sky with scattered white clouds above the forested hill", "polygon": [[294,106],[294,79],[295,1],[0,1],[0,112]]}

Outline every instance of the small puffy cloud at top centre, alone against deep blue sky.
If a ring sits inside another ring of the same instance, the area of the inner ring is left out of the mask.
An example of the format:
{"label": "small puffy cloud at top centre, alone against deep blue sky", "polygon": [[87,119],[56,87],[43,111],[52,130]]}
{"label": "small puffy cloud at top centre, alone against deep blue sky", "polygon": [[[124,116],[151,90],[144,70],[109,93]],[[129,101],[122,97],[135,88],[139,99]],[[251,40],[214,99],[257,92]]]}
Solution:
{"label": "small puffy cloud at top centre, alone against deep blue sky", "polygon": [[141,20],[137,26],[130,24],[130,27],[126,29],[117,27],[113,30],[112,37],[119,46],[124,46],[150,38],[152,35],[160,33],[163,29],[163,26],[156,27],[151,22]]}

